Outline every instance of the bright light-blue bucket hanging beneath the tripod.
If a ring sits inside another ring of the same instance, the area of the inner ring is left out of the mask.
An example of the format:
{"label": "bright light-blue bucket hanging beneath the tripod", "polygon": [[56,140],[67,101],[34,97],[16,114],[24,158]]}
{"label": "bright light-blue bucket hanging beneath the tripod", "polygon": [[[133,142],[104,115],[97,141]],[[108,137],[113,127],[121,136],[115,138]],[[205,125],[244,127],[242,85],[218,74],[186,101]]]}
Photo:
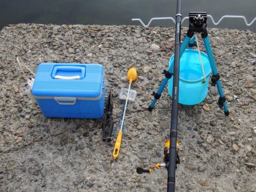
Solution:
{"label": "bright light-blue bucket hanging beneath the tripod", "polygon": [[[196,105],[204,101],[208,93],[208,83],[210,72],[210,62],[207,54],[201,52],[206,81],[204,81],[203,70],[199,53],[197,50],[185,49],[180,58],[180,80],[179,80],[179,103],[183,105]],[[172,55],[169,66],[174,65],[174,55]],[[173,69],[173,66],[172,66]],[[172,97],[173,77],[169,81],[168,92]]]}

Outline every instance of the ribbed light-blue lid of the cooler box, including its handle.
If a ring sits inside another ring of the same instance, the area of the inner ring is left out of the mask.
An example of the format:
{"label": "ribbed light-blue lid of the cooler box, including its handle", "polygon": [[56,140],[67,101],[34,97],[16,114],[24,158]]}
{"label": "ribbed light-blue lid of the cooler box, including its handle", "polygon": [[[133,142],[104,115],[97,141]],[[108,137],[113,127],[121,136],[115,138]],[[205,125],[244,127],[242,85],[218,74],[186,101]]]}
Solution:
{"label": "ribbed light-blue lid of the cooler box, including its handle", "polygon": [[100,64],[39,64],[32,95],[41,97],[100,97],[104,81]]}

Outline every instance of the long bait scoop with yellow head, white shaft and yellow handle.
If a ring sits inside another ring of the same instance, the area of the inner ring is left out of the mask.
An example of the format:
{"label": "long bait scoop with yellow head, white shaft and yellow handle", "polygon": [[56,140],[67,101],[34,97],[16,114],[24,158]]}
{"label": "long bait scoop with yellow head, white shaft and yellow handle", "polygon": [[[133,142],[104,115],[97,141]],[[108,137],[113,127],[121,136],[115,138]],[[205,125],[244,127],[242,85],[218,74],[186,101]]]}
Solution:
{"label": "long bait scoop with yellow head, white shaft and yellow handle", "polygon": [[115,141],[115,147],[113,151],[113,158],[116,159],[119,155],[120,147],[121,147],[121,141],[122,141],[122,129],[123,129],[123,121],[125,120],[125,111],[126,111],[126,106],[129,98],[129,93],[130,93],[130,88],[131,88],[131,83],[136,80],[137,78],[137,71],[135,68],[129,69],[127,73],[127,80],[130,82],[128,92],[127,92],[127,97],[126,97],[126,102],[125,102],[125,109],[123,110],[123,118],[122,118],[122,123],[121,123],[121,128],[120,131],[118,132],[117,140]]}

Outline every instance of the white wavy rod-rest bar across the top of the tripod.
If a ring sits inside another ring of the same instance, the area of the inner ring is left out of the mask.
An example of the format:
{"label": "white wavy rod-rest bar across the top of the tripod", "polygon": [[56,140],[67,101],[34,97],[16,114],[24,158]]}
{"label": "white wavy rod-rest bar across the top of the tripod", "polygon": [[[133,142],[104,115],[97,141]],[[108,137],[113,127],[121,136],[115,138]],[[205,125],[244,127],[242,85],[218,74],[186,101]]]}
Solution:
{"label": "white wavy rod-rest bar across the top of the tripod", "polygon": [[[224,18],[240,18],[240,19],[243,19],[244,22],[245,22],[245,24],[246,24],[246,26],[248,26],[248,27],[251,26],[251,25],[255,22],[255,20],[256,20],[256,17],[255,17],[250,23],[248,23],[247,20],[246,20],[246,18],[245,18],[245,16],[242,16],[242,15],[224,15],[224,16],[222,16],[222,17],[220,18],[220,20],[218,20],[218,22],[216,23],[216,22],[214,21],[212,15],[207,15],[207,17],[210,18],[210,19],[212,20],[212,23],[213,23],[214,25],[216,25],[216,26],[217,26],[218,24],[220,24],[220,22],[221,22]],[[184,22],[184,20],[186,20],[186,19],[189,19],[189,17],[188,17],[188,16],[185,16],[185,17],[181,20],[181,24],[182,24],[182,23]],[[172,22],[174,22],[174,24],[175,24],[175,19],[172,18],[172,17],[151,18],[150,21],[149,21],[147,24],[144,24],[141,19],[131,19],[131,20],[134,20],[134,21],[137,20],[137,21],[139,21],[139,22],[142,24],[142,26],[144,26],[144,27],[149,27],[150,24],[151,24],[151,22],[152,22],[153,20],[172,20]]]}

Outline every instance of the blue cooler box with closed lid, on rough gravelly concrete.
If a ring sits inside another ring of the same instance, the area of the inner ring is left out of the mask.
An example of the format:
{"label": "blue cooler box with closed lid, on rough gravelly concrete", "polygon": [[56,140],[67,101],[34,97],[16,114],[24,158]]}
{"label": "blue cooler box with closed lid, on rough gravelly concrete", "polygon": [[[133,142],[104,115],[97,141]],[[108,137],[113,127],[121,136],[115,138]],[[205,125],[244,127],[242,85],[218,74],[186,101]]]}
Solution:
{"label": "blue cooler box with closed lid, on rough gravelly concrete", "polygon": [[104,68],[100,64],[42,63],[31,93],[47,117],[102,118]]}

